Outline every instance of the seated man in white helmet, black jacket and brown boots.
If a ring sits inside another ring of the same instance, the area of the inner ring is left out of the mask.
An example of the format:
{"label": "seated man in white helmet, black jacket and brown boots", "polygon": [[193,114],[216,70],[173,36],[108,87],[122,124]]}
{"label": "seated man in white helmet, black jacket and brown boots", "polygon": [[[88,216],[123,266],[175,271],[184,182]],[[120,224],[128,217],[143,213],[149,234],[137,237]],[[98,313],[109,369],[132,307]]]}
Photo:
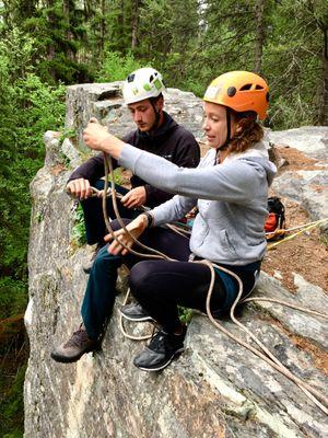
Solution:
{"label": "seated man in white helmet, black jacket and brown boots", "polygon": [[[124,85],[124,99],[138,129],[127,135],[124,141],[163,157],[178,166],[195,168],[200,159],[199,146],[191,132],[179,126],[164,112],[162,94],[164,90],[162,76],[152,68],[142,68],[129,74]],[[114,166],[117,165],[115,162]],[[97,247],[94,264],[87,269],[90,277],[81,309],[83,322],[68,342],[54,348],[51,353],[51,358],[60,362],[74,362],[83,354],[99,347],[105,322],[110,318],[114,306],[117,268],[121,264],[121,257],[112,257],[106,249],[102,249],[106,243],[104,237],[107,234],[102,199],[90,197],[91,185],[99,189],[104,187],[104,182],[99,181],[104,173],[103,155],[96,155],[78,168],[67,185],[70,193],[81,199],[86,241],[89,244],[97,243]],[[136,209],[141,205],[153,208],[173,196],[147,184],[137,175],[132,175],[130,182],[132,186],[130,191],[117,187],[117,191],[124,194],[121,203],[118,204],[120,204],[120,216],[126,219],[137,217],[140,210]],[[110,219],[114,219],[110,199],[108,199],[107,211]],[[116,221],[114,227],[120,228]],[[132,266],[136,263],[134,258],[132,255],[125,257],[126,265]],[[98,297],[105,296],[108,288],[114,292],[106,304],[103,304]],[[125,307],[121,312],[126,318],[134,321],[151,319],[139,304],[134,303]]]}

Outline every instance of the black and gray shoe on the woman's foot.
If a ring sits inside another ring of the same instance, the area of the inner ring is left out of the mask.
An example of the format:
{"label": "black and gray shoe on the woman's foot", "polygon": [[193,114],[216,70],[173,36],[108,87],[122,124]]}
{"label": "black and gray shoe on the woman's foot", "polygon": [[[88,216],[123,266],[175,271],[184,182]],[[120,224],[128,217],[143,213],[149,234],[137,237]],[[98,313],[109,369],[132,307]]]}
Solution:
{"label": "black and gray shoe on the woman's foot", "polygon": [[143,371],[160,371],[171,364],[173,358],[184,351],[186,327],[180,335],[160,330],[154,334],[150,344],[138,356],[133,365]]}

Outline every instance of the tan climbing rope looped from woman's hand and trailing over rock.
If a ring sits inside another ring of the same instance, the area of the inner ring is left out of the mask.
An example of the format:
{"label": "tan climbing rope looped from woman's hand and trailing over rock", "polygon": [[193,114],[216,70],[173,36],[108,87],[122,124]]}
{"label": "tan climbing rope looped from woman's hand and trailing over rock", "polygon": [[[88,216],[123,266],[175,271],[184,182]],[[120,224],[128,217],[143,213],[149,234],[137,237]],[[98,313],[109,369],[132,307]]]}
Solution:
{"label": "tan climbing rope looped from woman's hand and trailing over rock", "polygon": [[[105,162],[105,189],[104,193],[108,194],[108,175],[110,174],[110,184],[112,184],[112,189],[110,189],[110,195],[112,195],[112,199],[113,199],[113,206],[114,206],[114,210],[117,217],[117,220],[119,222],[119,224],[121,226],[121,228],[124,229],[125,233],[127,235],[129,235],[131,238],[131,240],[138,244],[140,247],[142,247],[143,250],[148,251],[149,253],[140,253],[129,246],[127,246],[124,242],[121,242],[116,235],[115,232],[113,230],[113,228],[110,227],[109,220],[108,220],[108,215],[107,215],[107,206],[106,206],[106,196],[103,196],[103,212],[104,212],[104,220],[107,227],[108,232],[112,234],[113,240],[117,241],[124,249],[126,249],[128,252],[138,255],[138,256],[142,256],[142,257],[148,257],[148,258],[164,258],[167,261],[174,261],[173,258],[168,257],[167,255],[165,255],[164,253],[161,253],[157,250],[154,250],[152,247],[149,247],[147,245],[144,245],[143,243],[141,243],[138,239],[136,239],[132,233],[129,232],[129,230],[127,230],[120,215],[117,208],[117,201],[116,201],[116,189],[115,189],[115,183],[114,183],[114,174],[113,174],[113,163],[112,163],[112,158],[104,152],[104,162]],[[321,221],[316,221],[316,222],[312,222],[311,224],[308,224],[308,227],[302,229],[301,231],[298,231],[297,233],[285,238],[284,240],[273,243],[272,245],[270,245],[270,247],[272,247],[273,245],[280,244],[285,240],[292,239],[294,235],[302,233],[313,227],[316,227],[319,223],[323,223],[327,221],[327,219],[324,219]],[[169,228],[174,231],[181,231],[181,230],[176,230],[176,226],[169,226]],[[185,232],[181,231],[181,232]],[[269,247],[269,249],[270,249]],[[150,254],[152,253],[152,254]],[[234,312],[236,307],[238,306],[238,303],[241,302],[255,302],[255,301],[267,301],[267,302],[274,302],[278,304],[282,304],[282,306],[288,306],[292,309],[296,309],[300,311],[304,311],[307,312],[309,314],[314,314],[324,319],[328,319],[327,314],[314,311],[314,310],[308,310],[308,309],[304,309],[301,307],[296,307],[292,303],[289,302],[284,302],[284,301],[280,301],[280,300],[274,300],[274,299],[270,299],[270,298],[261,298],[261,297],[255,297],[255,298],[246,298],[246,299],[242,299],[243,296],[243,283],[241,280],[241,278],[233,272],[219,266],[214,263],[211,263],[209,261],[194,261],[191,263],[200,263],[200,264],[204,264],[206,266],[209,267],[210,272],[211,272],[211,281],[210,281],[210,286],[209,286],[209,291],[208,291],[208,296],[207,296],[207,302],[206,302],[206,308],[207,308],[207,314],[209,316],[209,320],[212,322],[212,324],[218,327],[222,333],[224,333],[225,335],[227,335],[231,339],[235,341],[236,343],[238,343],[239,345],[244,346],[245,348],[247,348],[248,350],[253,351],[256,356],[260,357],[262,360],[265,360],[267,364],[269,364],[272,368],[274,368],[277,371],[281,372],[283,376],[285,376],[286,378],[289,378],[290,380],[292,380],[324,413],[328,414],[328,408],[325,405],[328,405],[328,399],[321,394],[319,391],[317,391],[315,388],[311,387],[308,383],[304,382],[303,380],[301,380],[300,378],[297,378],[296,376],[294,376],[285,366],[283,366],[271,353],[270,350],[245,326],[243,325],[235,316]],[[244,339],[235,336],[234,334],[232,334],[231,332],[229,332],[223,325],[219,324],[219,322],[213,318],[212,313],[211,313],[211,309],[210,309],[210,301],[211,301],[211,296],[213,292],[213,286],[214,286],[214,279],[215,279],[215,272],[214,268],[222,270],[226,274],[229,274],[230,276],[232,276],[233,278],[235,278],[235,280],[237,281],[238,286],[239,286],[239,290],[237,293],[236,299],[234,300],[231,311],[230,311],[230,316],[232,319],[232,321],[238,326],[241,327],[244,332],[247,333],[248,336],[251,337],[251,339],[261,348],[260,351],[259,349],[253,347],[251,345],[249,345],[247,342],[245,342]],[[124,304],[128,301],[128,297],[129,297],[129,290],[125,297],[124,300]],[[122,323],[122,316],[120,315],[120,328],[124,333],[125,336],[127,336],[130,339],[147,339],[150,336],[132,336],[129,335],[125,327],[124,327],[124,323]]]}

